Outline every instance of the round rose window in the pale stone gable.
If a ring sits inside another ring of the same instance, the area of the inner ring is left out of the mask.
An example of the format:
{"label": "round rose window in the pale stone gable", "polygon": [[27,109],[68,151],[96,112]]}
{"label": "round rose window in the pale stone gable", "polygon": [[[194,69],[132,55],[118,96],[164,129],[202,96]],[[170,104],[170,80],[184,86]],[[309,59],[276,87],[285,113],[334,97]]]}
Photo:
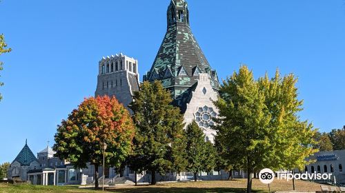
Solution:
{"label": "round rose window in the pale stone gable", "polygon": [[197,121],[199,127],[209,128],[211,125],[215,125],[212,118],[216,117],[217,113],[213,108],[204,106],[204,108],[199,108],[194,115],[195,121]]}

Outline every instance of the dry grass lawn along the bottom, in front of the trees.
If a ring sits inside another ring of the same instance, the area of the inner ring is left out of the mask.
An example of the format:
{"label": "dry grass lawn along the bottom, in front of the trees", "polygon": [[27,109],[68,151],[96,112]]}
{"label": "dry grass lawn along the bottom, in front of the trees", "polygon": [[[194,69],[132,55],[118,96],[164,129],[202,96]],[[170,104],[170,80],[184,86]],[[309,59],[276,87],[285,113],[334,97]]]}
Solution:
{"label": "dry grass lawn along the bottom, in front of the trees", "polygon": [[[317,183],[306,181],[296,181],[296,190],[310,190],[319,191],[320,186]],[[292,182],[275,180],[270,185],[270,191],[277,190],[292,190]],[[72,193],[72,192],[101,192],[101,190],[80,189],[77,186],[34,186],[34,185],[11,185],[0,184],[0,193]],[[189,183],[166,183],[158,185],[119,185],[117,187],[107,188],[107,192],[129,193],[129,192],[144,192],[144,193],[161,193],[161,192],[246,192],[246,180],[238,179],[235,181],[198,181]],[[260,183],[257,179],[253,180],[253,192],[264,193],[268,192],[268,186]]]}

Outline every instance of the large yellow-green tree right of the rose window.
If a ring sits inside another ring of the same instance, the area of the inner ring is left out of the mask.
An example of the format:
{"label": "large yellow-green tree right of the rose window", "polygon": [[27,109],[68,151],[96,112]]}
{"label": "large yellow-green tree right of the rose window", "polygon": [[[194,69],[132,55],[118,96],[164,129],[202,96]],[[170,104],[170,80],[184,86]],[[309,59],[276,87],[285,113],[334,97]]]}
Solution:
{"label": "large yellow-green tree right of the rose window", "polygon": [[296,82],[293,74],[282,79],[278,71],[271,80],[266,75],[255,81],[246,65],[223,81],[215,130],[228,150],[225,158],[247,171],[247,192],[254,172],[300,168],[317,151],[313,125],[297,116],[303,101],[297,99]]}

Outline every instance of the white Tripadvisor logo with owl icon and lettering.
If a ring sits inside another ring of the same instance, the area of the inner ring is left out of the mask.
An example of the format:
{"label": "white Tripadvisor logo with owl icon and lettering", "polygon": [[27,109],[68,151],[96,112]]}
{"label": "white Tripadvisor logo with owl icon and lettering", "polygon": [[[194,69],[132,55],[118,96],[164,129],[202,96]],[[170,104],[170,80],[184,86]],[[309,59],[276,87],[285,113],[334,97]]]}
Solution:
{"label": "white Tripadvisor logo with owl icon and lettering", "polygon": [[316,172],[314,173],[296,173],[296,174],[292,174],[292,173],[286,173],[286,172],[273,172],[272,170],[266,168],[264,170],[261,170],[259,173],[259,180],[262,183],[265,184],[269,184],[272,183],[275,180],[275,174],[277,174],[277,179],[278,180],[286,180],[286,181],[290,181],[290,180],[331,180],[331,176],[332,174],[317,174]]}

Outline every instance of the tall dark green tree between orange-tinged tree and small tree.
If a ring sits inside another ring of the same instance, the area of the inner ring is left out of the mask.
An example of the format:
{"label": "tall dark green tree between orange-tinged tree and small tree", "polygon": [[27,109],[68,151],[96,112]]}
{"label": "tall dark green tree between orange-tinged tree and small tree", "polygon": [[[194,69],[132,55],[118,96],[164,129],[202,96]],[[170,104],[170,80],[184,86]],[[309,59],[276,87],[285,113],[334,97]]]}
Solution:
{"label": "tall dark green tree between orange-tinged tree and small tree", "polygon": [[159,81],[144,82],[133,98],[130,108],[137,126],[135,154],[142,169],[152,174],[151,184],[155,185],[156,172],[164,175],[186,167],[182,161],[186,150],[181,150],[184,119],[179,108],[170,105],[170,92]]}

